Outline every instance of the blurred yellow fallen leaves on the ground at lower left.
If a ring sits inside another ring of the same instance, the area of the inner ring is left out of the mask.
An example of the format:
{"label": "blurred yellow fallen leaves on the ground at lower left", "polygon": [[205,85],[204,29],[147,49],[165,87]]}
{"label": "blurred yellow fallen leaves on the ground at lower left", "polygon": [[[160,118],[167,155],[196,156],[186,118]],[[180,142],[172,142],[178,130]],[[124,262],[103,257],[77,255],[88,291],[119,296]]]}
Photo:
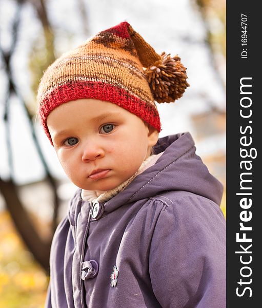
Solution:
{"label": "blurred yellow fallen leaves on the ground at lower left", "polygon": [[0,213],[0,308],[43,308],[48,278]]}

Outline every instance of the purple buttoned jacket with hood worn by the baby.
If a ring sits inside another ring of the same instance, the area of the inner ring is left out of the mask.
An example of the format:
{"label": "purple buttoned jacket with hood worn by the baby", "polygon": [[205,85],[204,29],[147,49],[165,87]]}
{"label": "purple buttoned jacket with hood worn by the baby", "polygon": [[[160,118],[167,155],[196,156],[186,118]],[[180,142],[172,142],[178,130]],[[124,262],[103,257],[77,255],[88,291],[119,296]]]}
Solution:
{"label": "purple buttoned jacket with hood worn by the baby", "polygon": [[109,201],[77,190],[53,238],[46,307],[226,307],[223,186],[190,133],[154,149],[165,152]]}

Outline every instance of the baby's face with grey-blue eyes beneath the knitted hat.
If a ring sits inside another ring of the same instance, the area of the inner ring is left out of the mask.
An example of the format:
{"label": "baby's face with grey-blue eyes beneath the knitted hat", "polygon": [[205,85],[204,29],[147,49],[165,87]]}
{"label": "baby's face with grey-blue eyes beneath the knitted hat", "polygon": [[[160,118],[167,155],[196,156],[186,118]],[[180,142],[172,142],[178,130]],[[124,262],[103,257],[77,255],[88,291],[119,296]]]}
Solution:
{"label": "baby's face with grey-blue eyes beneath the knitted hat", "polygon": [[136,115],[94,99],[56,107],[47,125],[67,176],[86,190],[106,191],[129,179],[158,139]]}

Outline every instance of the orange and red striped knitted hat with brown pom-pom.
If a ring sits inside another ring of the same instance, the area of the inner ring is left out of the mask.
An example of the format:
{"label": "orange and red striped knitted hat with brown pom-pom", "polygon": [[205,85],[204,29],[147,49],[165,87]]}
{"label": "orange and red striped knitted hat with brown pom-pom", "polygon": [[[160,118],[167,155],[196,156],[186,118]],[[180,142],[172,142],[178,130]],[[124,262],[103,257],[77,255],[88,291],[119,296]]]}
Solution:
{"label": "orange and red striped knitted hat with brown pom-pom", "polygon": [[115,103],[158,131],[154,101],[174,102],[189,84],[186,68],[176,55],[155,50],[127,22],[96,34],[63,54],[45,71],[38,87],[38,114],[45,132],[49,113],[77,99]]}

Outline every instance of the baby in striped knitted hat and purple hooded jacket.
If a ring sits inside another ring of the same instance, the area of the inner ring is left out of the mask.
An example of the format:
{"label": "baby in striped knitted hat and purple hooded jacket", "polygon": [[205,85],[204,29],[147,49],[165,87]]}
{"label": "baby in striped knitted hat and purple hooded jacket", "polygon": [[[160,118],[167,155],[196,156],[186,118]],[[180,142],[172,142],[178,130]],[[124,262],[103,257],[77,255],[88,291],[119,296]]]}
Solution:
{"label": "baby in striped knitted hat and purple hooded jacket", "polygon": [[155,101],[187,86],[127,22],[44,73],[38,113],[79,187],[51,247],[46,307],[225,308],[223,186],[190,133],[158,139]]}

